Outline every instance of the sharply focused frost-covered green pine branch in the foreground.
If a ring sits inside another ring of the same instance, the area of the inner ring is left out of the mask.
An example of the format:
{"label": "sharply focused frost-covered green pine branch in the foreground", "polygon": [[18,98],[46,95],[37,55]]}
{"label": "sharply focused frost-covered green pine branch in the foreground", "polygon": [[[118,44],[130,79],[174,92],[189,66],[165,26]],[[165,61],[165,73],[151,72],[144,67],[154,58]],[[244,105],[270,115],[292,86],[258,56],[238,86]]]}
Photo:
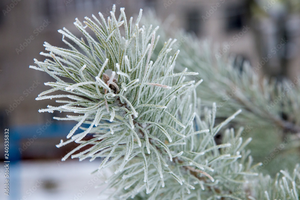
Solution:
{"label": "sharply focused frost-covered green pine branch in the foreground", "polygon": [[[157,45],[158,27],[139,25],[142,10],[135,22],[124,8],[118,18],[115,11],[107,20],[101,13],[100,19],[76,19],[85,39],[58,30],[69,49],[45,42],[41,55],[48,58],[30,66],[56,80],[45,83],[51,89],[36,99],[60,99],[60,106],[39,111],[73,112],[55,119],[78,122],[57,145],[79,144],[62,160],[102,158],[98,171],[114,171],[106,180],[106,187],[116,189],[110,199],[298,199],[298,166],[293,175],[281,171],[283,177],[274,180],[259,175],[262,163],[253,165],[245,149],[251,138],[243,141],[243,128],[223,128],[241,110],[216,125],[217,104],[201,107],[202,80],[193,78],[198,72],[178,71],[182,63],[175,68],[176,39]],[[56,91],[67,94],[50,94]],[[83,131],[75,134],[78,128]],[[262,191],[257,185],[268,186]]]}

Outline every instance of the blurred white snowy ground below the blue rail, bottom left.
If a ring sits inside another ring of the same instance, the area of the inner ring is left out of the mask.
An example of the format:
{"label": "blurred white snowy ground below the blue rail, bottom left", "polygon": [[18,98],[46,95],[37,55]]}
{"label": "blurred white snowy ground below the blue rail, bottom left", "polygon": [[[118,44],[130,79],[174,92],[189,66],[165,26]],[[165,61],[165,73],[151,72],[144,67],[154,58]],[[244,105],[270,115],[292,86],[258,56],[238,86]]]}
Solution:
{"label": "blurred white snowy ground below the blue rail, bottom left", "polygon": [[[91,172],[101,161],[22,161],[10,166],[10,195],[7,200],[93,200],[108,199],[112,190],[96,188],[112,172]],[[3,171],[3,170],[2,170]],[[4,173],[1,171],[1,176]],[[2,185],[2,178],[1,178]],[[3,189],[2,189],[3,190]],[[2,198],[0,198],[2,199]]]}

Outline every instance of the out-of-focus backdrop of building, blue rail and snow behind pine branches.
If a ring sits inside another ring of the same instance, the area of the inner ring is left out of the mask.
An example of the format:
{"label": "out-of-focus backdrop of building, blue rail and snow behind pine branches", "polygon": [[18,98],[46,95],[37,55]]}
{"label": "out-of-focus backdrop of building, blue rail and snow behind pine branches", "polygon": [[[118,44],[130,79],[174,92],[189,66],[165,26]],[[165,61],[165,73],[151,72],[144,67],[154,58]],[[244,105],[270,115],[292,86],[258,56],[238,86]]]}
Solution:
{"label": "out-of-focus backdrop of building, blue rail and snow behind pine branches", "polygon": [[[81,37],[73,25],[75,18],[83,21],[99,11],[107,18],[113,4],[117,11],[125,7],[128,17],[137,16],[140,8],[152,9],[162,21],[171,19],[175,30],[184,29],[219,44],[216,57],[229,53],[240,64],[250,61],[261,75],[278,80],[300,75],[299,0],[2,0],[0,150],[4,152],[4,129],[8,128],[10,196],[1,193],[1,199],[94,199],[99,194],[95,182],[101,183],[107,174],[90,173],[100,160],[61,162],[76,146],[58,149],[55,145],[74,123],[52,119],[65,113],[38,112],[53,105],[52,100],[35,101],[48,89],[44,82],[52,78],[29,66],[34,65],[34,58],[45,59],[39,54],[44,41],[66,47],[58,29],[66,27]],[[5,160],[4,153],[0,159]],[[4,173],[1,164],[1,181]],[[100,195],[106,199],[104,193]]]}

